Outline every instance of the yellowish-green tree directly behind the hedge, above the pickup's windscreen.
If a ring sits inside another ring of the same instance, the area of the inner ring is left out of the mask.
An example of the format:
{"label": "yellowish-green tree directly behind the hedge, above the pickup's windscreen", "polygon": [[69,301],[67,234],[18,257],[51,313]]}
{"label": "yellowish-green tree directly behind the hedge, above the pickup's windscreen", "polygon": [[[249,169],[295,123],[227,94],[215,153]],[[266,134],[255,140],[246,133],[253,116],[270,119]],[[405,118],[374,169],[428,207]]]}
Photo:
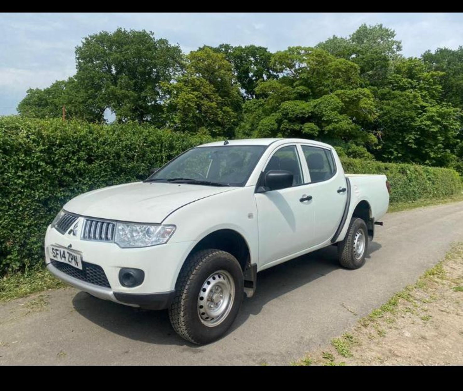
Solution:
{"label": "yellowish-green tree directly behind the hedge, above the pickup's windscreen", "polygon": [[167,126],[180,132],[233,137],[243,98],[225,55],[205,48],[187,56],[186,69],[163,83]]}

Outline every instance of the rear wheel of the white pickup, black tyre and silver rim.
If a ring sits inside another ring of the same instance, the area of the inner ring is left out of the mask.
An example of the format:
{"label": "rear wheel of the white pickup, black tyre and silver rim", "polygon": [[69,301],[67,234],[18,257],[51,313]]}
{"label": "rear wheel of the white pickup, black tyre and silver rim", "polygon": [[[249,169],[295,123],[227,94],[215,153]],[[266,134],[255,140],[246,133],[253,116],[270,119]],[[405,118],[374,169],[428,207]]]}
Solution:
{"label": "rear wheel of the white pickup, black tyre and silver rim", "polygon": [[339,263],[347,269],[358,269],[365,264],[367,251],[367,225],[362,219],[353,217],[344,240],[338,244]]}

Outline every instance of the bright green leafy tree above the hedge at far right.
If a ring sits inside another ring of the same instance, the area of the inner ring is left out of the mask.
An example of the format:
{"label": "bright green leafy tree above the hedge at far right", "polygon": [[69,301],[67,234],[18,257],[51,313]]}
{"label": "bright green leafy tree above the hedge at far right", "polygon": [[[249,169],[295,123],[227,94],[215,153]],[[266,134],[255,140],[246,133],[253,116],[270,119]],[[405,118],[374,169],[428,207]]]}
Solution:
{"label": "bright green leafy tree above the hedge at far right", "polygon": [[378,156],[387,161],[455,166],[461,111],[442,101],[443,72],[417,58],[400,59],[378,90]]}

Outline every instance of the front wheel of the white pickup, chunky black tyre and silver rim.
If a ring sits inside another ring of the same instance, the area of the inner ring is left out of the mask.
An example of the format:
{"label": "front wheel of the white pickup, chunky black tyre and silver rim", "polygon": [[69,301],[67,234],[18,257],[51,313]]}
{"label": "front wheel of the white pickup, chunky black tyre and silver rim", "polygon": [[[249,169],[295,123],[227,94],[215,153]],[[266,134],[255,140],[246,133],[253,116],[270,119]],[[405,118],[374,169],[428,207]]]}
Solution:
{"label": "front wheel of the white pickup, chunky black tyre and silver rim", "polygon": [[219,339],[238,315],[243,280],[232,254],[216,249],[194,253],[182,267],[169,308],[175,332],[198,345]]}

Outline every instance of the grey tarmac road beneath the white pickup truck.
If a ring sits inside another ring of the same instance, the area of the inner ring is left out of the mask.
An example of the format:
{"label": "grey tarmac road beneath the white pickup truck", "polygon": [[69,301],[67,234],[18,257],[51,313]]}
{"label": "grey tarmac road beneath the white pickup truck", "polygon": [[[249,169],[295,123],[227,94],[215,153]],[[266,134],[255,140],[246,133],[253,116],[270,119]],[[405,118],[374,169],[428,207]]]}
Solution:
{"label": "grey tarmac road beneath the white pickup truck", "polygon": [[330,246],[259,273],[257,292],[244,299],[231,331],[207,346],[178,337],[167,311],[74,288],[0,304],[0,365],[287,365],[329,344],[463,240],[463,202],[383,221],[359,270],[341,269]]}

